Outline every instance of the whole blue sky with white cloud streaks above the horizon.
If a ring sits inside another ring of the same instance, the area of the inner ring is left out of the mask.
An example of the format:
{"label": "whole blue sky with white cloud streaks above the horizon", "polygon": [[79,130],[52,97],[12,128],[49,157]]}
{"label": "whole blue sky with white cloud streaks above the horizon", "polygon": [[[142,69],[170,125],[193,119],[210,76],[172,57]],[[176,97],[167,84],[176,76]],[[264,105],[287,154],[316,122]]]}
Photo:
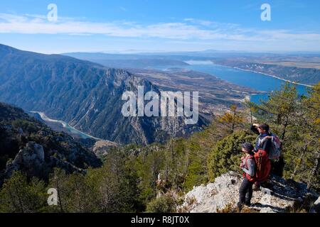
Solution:
{"label": "whole blue sky with white cloud streaks above the horizon", "polygon": [[[48,21],[48,4],[58,21]],[[272,21],[262,21],[262,4]],[[0,43],[23,50],[320,51],[318,0],[14,0],[0,2]]]}

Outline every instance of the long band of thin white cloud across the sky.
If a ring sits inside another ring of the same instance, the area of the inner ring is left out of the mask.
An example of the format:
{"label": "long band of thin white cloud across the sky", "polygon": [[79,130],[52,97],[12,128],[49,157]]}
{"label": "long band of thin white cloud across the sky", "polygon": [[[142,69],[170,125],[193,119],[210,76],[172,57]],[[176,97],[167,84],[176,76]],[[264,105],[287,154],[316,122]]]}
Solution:
{"label": "long band of thin white cloud across the sky", "polygon": [[46,20],[42,15],[15,15],[0,13],[0,33],[22,34],[68,34],[107,35],[121,38],[162,38],[169,40],[210,41],[226,40],[235,42],[260,43],[320,43],[319,33],[297,33],[287,30],[259,30],[242,28],[233,23],[217,23],[195,18],[183,22],[154,23],[142,25],[128,21],[97,23],[81,18],[58,18],[57,22]]}

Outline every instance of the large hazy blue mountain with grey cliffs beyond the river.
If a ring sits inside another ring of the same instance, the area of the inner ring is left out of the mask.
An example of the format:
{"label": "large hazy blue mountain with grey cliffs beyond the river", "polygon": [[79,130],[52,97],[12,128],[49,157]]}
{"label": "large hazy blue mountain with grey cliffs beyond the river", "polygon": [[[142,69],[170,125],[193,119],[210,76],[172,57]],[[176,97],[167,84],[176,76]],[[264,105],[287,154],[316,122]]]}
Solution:
{"label": "large hazy blue mountain with grey cliffs beyond the river", "polygon": [[63,55],[42,55],[0,45],[0,101],[68,122],[97,138],[117,143],[162,142],[200,131],[183,118],[122,116],[126,91],[159,89],[124,70]]}

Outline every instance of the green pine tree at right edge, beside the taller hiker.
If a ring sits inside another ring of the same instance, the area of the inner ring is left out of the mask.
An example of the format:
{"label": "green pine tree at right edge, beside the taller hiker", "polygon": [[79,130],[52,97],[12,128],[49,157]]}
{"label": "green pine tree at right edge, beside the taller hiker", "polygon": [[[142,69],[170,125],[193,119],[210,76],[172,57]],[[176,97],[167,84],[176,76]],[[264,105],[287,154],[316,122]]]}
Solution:
{"label": "green pine tree at right edge, beside the taller hiker", "polygon": [[309,97],[299,102],[293,126],[288,131],[285,157],[285,177],[320,188],[319,133],[320,84],[309,91]]}

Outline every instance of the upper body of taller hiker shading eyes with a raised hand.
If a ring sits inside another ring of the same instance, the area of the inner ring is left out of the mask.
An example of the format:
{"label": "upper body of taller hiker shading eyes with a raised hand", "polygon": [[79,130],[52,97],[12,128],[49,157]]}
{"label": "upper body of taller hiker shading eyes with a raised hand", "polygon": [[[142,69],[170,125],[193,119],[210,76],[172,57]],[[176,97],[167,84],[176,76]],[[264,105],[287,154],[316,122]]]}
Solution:
{"label": "upper body of taller hiker shading eyes with a raised hand", "polygon": [[250,130],[258,134],[257,140],[255,141],[255,153],[258,150],[265,150],[269,155],[272,146],[270,127],[266,123],[254,123]]}

